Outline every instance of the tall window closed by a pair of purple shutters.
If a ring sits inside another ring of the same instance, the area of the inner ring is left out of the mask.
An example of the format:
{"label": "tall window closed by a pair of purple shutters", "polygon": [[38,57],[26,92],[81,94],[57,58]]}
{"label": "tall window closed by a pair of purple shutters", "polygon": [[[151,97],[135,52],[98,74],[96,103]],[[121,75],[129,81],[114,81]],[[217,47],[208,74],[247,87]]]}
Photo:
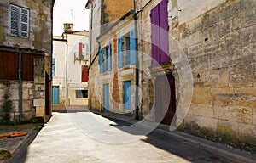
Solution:
{"label": "tall window closed by a pair of purple shutters", "polygon": [[169,62],[169,26],[167,0],[163,0],[150,12],[152,65]]}

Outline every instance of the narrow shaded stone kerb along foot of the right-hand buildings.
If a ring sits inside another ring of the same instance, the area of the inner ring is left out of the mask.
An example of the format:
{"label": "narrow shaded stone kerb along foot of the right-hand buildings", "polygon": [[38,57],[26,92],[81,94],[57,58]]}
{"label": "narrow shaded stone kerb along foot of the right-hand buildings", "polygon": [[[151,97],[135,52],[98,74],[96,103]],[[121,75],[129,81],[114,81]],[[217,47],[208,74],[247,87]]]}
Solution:
{"label": "narrow shaded stone kerb along foot of the right-hand buildings", "polygon": [[[92,110],[92,112],[98,114],[98,115],[103,115],[105,117],[109,118],[115,118],[119,119],[122,121],[126,121],[128,123],[134,124],[137,123],[138,121],[131,119],[129,116],[122,115],[119,117],[118,115],[114,115],[111,113],[102,113],[99,111]],[[154,123],[153,121],[147,121],[148,125],[143,125],[143,127],[150,127],[152,126],[151,123]],[[150,125],[151,124],[151,125]],[[207,139],[195,137],[193,135],[189,135],[185,132],[179,132],[177,130],[170,132],[169,130],[170,126],[160,124],[157,126],[155,132],[158,132],[160,134],[165,134],[167,136],[172,136],[173,138],[177,138],[179,140],[187,140],[190,143],[194,144],[196,147],[201,148],[201,149],[207,149],[209,151],[213,151],[217,155],[222,155],[228,160],[234,160],[234,161],[240,161],[240,162],[249,162],[249,163],[254,163],[256,160],[256,155],[254,154],[249,154],[246,151],[241,151],[239,149],[234,149],[231,147],[228,147],[222,143],[217,143],[217,142],[212,142]]]}

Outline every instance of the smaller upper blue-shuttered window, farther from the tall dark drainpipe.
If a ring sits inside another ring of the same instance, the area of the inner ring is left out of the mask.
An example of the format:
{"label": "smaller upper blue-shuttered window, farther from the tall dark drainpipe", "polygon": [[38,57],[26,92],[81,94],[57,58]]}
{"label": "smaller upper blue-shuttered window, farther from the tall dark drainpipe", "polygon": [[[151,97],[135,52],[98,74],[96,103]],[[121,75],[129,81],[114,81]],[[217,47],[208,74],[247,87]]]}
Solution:
{"label": "smaller upper blue-shuttered window, farther from the tall dark drainpipe", "polygon": [[107,47],[100,49],[99,55],[99,64],[100,64],[100,72],[110,71],[111,70],[111,44],[108,44]]}

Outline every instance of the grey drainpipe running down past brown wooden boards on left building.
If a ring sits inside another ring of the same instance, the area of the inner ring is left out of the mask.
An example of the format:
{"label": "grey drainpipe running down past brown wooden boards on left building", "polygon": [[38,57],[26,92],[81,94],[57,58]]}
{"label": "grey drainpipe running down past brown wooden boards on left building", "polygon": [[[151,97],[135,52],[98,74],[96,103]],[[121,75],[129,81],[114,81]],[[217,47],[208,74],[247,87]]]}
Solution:
{"label": "grey drainpipe running down past brown wooden boards on left building", "polygon": [[19,53],[19,120],[24,121],[22,117],[22,79],[21,79],[21,53]]}

